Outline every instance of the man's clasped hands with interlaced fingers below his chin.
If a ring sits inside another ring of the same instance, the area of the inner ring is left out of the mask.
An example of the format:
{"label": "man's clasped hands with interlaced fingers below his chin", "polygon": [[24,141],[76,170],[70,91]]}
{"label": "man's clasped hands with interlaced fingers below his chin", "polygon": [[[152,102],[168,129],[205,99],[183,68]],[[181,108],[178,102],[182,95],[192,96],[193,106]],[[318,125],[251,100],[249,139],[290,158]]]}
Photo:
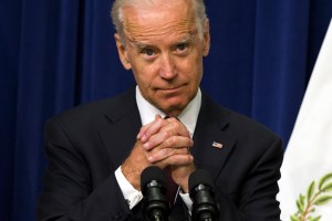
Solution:
{"label": "man's clasped hands with interlaced fingers below his chin", "polygon": [[141,173],[148,166],[170,168],[173,180],[188,192],[188,178],[195,170],[189,148],[194,145],[186,126],[176,118],[155,119],[143,126],[137,141],[122,165],[122,172],[137,190],[141,190]]}

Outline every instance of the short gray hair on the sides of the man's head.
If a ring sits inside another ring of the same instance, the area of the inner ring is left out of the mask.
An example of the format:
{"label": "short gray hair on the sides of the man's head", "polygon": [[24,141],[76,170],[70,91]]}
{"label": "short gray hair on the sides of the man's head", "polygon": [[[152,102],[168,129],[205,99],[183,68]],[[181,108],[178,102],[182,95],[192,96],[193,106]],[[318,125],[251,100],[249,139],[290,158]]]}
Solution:
{"label": "short gray hair on the sides of the man's head", "polygon": [[[204,30],[206,28],[206,9],[204,0],[191,0],[195,11],[195,19],[197,23],[198,29],[198,36],[201,40]],[[116,32],[118,33],[121,40],[124,42],[125,33],[124,33],[124,27],[123,27],[123,7],[124,6],[134,6],[134,4],[142,4],[142,0],[115,0],[112,7],[111,17],[113,20],[114,28]],[[154,0],[149,0],[151,3],[154,3]]]}

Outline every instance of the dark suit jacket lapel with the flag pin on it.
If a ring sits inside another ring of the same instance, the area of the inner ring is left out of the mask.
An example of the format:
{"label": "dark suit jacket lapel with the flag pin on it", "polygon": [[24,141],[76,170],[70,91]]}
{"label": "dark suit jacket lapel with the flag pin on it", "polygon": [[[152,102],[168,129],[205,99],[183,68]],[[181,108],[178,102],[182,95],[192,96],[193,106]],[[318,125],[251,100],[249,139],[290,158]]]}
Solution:
{"label": "dark suit jacket lapel with the flag pin on it", "polygon": [[[196,167],[208,170],[215,178],[236,143],[235,137],[227,133],[228,124],[222,109],[204,95],[194,133],[191,154]],[[214,147],[214,143],[220,144],[222,147]]]}

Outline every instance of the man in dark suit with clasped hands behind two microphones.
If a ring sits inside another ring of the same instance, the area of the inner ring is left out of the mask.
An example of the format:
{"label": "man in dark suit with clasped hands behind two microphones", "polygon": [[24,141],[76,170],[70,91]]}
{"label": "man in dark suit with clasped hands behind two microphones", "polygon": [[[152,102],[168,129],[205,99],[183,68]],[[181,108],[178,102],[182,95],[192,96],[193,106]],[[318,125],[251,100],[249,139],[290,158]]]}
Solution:
{"label": "man in dark suit with clasped hands behind two microphones", "polygon": [[141,173],[152,165],[178,186],[169,220],[190,219],[197,168],[214,178],[220,220],[280,220],[281,139],[199,88],[210,45],[204,2],[116,0],[112,17],[137,86],[48,122],[38,220],[142,220]]}

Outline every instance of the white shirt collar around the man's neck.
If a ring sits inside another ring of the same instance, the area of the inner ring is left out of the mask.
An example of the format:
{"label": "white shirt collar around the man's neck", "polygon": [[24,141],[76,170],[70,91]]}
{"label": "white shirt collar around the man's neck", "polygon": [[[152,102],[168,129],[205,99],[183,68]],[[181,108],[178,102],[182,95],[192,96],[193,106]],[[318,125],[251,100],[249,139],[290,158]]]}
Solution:
{"label": "white shirt collar around the man's neck", "polygon": [[[138,86],[136,86],[136,103],[138,106],[142,125],[146,125],[153,122],[157,114],[159,114],[162,117],[165,117],[165,113],[163,113],[157,107],[153,106],[142,96]],[[186,106],[183,113],[177,117],[187,127],[191,137],[195,131],[200,105],[201,92],[200,88],[198,88],[195,98]]]}

